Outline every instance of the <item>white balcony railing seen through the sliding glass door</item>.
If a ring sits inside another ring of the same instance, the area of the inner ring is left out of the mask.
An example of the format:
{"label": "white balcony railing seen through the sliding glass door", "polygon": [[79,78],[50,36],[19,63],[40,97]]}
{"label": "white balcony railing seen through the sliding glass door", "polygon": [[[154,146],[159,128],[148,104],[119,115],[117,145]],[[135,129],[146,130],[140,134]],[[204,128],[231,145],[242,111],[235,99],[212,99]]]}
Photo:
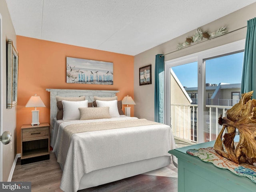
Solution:
{"label": "white balcony railing seen through the sliding glass door", "polygon": [[[232,106],[206,105],[204,118],[204,141],[215,140],[221,130],[218,125],[220,114],[225,116],[226,110]],[[171,104],[170,120],[173,135],[190,142],[197,142],[198,136],[198,105]]]}

